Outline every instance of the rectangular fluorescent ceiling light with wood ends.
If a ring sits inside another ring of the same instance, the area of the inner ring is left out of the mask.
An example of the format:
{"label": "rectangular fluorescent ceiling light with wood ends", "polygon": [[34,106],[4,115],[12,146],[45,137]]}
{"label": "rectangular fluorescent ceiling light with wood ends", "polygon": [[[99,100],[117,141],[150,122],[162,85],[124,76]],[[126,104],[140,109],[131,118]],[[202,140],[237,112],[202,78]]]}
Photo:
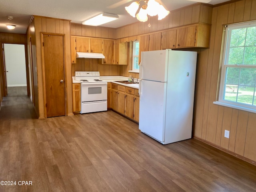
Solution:
{"label": "rectangular fluorescent ceiling light with wood ends", "polygon": [[119,19],[119,16],[116,14],[102,13],[100,15],[97,15],[93,18],[90,18],[90,19],[82,22],[82,24],[83,25],[99,26],[99,25],[114,21],[116,19]]}

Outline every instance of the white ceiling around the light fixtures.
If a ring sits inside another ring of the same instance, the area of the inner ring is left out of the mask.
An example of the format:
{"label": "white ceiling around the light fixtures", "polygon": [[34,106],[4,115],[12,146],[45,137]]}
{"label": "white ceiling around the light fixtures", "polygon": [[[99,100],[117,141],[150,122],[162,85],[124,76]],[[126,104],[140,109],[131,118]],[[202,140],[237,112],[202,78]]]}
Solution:
{"label": "white ceiling around the light fixtures", "polygon": [[[46,16],[71,20],[80,23],[102,12],[118,14],[120,19],[102,26],[118,28],[137,22],[130,16],[125,6],[133,0],[0,0],[0,32],[25,34],[32,15]],[[167,10],[175,10],[199,1],[209,4],[219,4],[227,0],[156,0],[162,2]],[[196,2],[195,2],[196,1]],[[144,2],[140,2],[140,5]],[[13,16],[8,20],[7,16]],[[8,30],[6,24],[16,25],[14,30]]]}

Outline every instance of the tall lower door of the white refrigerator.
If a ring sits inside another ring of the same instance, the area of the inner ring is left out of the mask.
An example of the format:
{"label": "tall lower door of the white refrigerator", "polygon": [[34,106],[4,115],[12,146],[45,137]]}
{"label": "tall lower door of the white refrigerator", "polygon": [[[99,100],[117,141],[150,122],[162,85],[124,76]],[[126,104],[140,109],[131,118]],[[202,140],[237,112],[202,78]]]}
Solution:
{"label": "tall lower door of the white refrigerator", "polygon": [[148,136],[164,142],[166,83],[140,80],[139,129]]}

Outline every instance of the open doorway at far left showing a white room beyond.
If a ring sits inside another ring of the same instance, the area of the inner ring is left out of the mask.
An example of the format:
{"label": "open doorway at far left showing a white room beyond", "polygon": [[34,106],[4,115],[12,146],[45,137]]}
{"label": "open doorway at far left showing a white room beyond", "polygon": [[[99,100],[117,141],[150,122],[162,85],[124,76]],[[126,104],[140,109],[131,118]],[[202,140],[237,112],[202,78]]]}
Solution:
{"label": "open doorway at far left showing a white room beyond", "polygon": [[[3,44],[5,96],[8,87],[27,86],[26,56],[24,44]],[[27,92],[28,94],[28,92]]]}

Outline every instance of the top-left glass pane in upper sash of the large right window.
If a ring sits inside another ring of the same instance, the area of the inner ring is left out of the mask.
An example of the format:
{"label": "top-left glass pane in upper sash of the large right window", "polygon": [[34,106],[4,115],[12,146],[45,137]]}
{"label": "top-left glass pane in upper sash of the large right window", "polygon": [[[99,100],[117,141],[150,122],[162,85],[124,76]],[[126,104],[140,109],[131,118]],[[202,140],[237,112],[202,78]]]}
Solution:
{"label": "top-left glass pane in upper sash of the large right window", "polygon": [[244,46],[246,28],[233,29],[231,32],[230,47]]}

